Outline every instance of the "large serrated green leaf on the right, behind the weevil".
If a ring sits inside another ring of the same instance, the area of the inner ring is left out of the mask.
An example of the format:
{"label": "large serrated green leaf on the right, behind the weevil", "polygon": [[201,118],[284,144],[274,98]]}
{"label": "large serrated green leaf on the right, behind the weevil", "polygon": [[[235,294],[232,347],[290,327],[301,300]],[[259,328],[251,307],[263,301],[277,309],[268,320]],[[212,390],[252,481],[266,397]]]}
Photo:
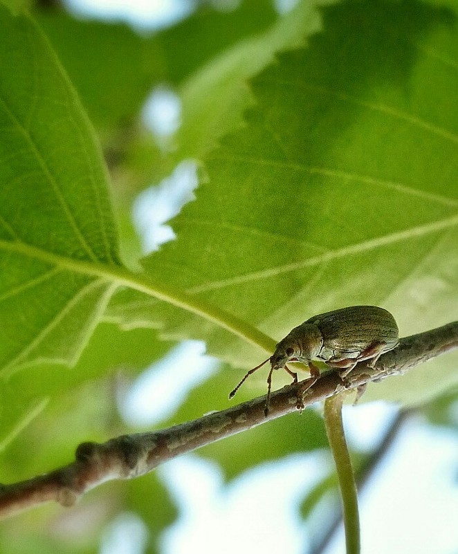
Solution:
{"label": "large serrated green leaf on the right, behind the weevil", "polygon": [[[256,77],[246,127],[207,157],[208,182],[172,221],[178,239],[145,259],[149,275],[277,339],[351,304],[389,308],[401,335],[456,319],[455,14],[389,6],[325,8],[309,48]],[[152,306],[136,301],[137,313],[118,310],[126,325],[148,320]],[[263,356],[179,314],[162,333],[207,335],[211,353],[241,367]],[[438,394],[457,381],[449,359],[433,392],[412,371],[367,398]]]}

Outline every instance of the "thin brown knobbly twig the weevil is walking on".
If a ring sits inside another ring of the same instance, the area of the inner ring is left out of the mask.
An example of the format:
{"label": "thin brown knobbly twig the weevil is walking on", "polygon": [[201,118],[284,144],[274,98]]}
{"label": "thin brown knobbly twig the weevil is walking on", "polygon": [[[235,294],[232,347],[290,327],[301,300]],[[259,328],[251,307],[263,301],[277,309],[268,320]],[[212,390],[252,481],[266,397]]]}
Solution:
{"label": "thin brown knobbly twig the weevil is walking on", "polygon": [[76,449],[75,461],[63,468],[27,481],[0,485],[0,517],[48,501],[71,506],[84,492],[104,481],[138,477],[185,452],[294,412],[301,403],[309,406],[343,389],[403,373],[457,347],[458,322],[454,322],[401,339],[399,346],[381,356],[374,368],[367,362],[359,363],[347,376],[345,387],[333,370],[322,373],[310,388],[311,379],[306,379],[275,391],[267,416],[266,397],[262,396],[169,429],[122,435],[106,443],[82,443]]}

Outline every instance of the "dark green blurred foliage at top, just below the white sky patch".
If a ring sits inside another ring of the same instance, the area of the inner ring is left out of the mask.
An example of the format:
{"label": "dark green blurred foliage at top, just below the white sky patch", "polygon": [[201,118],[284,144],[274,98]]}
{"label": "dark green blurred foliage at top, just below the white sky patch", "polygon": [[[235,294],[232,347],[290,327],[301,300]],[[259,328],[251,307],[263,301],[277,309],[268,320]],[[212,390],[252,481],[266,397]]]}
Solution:
{"label": "dark green blurred foliage at top, just below the white sky patch", "polygon": [[245,1],[230,13],[203,8],[181,24],[149,35],[123,24],[76,19],[62,10],[37,9],[35,17],[104,142],[113,147],[114,129],[127,126],[129,131],[129,120],[138,118],[154,86],[178,84],[221,49],[264,29],[275,12],[266,0]]}

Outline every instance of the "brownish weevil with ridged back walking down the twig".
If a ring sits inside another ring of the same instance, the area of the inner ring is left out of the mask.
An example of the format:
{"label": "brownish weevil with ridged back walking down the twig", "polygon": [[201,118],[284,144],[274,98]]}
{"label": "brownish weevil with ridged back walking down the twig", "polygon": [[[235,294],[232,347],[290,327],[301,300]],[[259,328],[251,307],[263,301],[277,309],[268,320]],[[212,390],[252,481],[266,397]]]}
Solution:
{"label": "brownish weevil with ridged back walking down the twig", "polygon": [[[271,382],[274,369],[284,369],[297,382],[297,373],[288,362],[302,362],[309,367],[312,381],[318,380],[320,370],[312,360],[320,360],[340,369],[340,377],[350,373],[358,362],[371,360],[374,367],[381,354],[394,349],[399,342],[399,330],[391,313],[378,306],[349,306],[314,315],[295,327],[275,347],[271,358],[250,369],[229,395],[232,398],[248,376],[271,362],[267,377],[267,399],[264,413],[268,414]],[[300,401],[298,400],[300,406]]]}

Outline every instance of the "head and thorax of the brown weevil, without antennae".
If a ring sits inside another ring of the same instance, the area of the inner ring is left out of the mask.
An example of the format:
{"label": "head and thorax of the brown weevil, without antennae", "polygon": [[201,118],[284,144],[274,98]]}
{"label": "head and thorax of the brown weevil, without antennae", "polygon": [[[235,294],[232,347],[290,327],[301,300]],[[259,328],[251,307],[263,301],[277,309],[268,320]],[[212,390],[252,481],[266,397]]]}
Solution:
{"label": "head and thorax of the brown weevil, without antennae", "polygon": [[277,344],[271,358],[273,369],[280,369],[290,360],[308,364],[318,357],[323,345],[320,329],[311,323],[302,323]]}

